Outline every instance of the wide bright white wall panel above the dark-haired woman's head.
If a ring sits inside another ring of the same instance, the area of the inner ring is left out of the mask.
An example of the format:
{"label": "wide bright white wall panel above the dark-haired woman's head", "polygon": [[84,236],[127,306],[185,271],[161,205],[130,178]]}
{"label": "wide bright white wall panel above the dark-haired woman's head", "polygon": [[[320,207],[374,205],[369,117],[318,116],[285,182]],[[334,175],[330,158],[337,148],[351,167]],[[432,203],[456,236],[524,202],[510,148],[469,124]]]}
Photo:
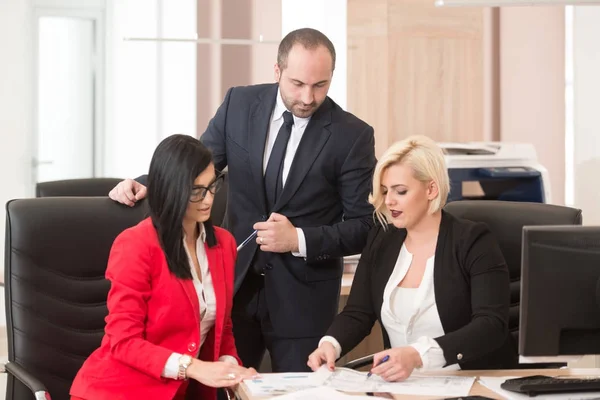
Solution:
{"label": "wide bright white wall panel above the dark-haired woman's head", "polygon": [[154,149],[196,134],[195,43],[124,38],[194,36],[195,0],[107,1],[104,175],[146,174]]}

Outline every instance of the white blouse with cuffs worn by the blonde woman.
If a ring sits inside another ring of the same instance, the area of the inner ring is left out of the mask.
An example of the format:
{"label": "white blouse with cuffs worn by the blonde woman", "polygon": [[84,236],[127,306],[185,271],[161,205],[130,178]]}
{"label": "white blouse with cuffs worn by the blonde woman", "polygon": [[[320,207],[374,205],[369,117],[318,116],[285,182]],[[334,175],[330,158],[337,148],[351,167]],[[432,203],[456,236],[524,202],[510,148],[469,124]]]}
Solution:
{"label": "white blouse with cuffs worn by the blonde woman", "polygon": [[[412,346],[423,361],[422,370],[460,369],[458,364],[446,365],[444,352],[434,337],[443,336],[444,328],[435,303],[433,266],[435,257],[427,260],[421,285],[418,288],[398,287],[412,264],[413,255],[402,245],[394,270],[383,292],[381,321],[390,339],[391,347]],[[336,349],[337,357],[342,352],[338,341],[325,336],[319,345],[328,341]]]}

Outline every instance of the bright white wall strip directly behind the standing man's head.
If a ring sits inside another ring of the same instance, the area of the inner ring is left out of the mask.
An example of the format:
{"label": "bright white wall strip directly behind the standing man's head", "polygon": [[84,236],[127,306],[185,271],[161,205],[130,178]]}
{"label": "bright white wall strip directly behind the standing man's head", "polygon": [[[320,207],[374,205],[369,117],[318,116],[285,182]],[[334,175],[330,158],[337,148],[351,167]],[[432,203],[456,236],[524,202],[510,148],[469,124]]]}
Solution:
{"label": "bright white wall strip directly behind the standing man's head", "polygon": [[314,28],[333,42],[336,53],[335,72],[329,89],[331,97],[346,109],[347,79],[347,1],[346,0],[282,0],[281,37],[299,28]]}

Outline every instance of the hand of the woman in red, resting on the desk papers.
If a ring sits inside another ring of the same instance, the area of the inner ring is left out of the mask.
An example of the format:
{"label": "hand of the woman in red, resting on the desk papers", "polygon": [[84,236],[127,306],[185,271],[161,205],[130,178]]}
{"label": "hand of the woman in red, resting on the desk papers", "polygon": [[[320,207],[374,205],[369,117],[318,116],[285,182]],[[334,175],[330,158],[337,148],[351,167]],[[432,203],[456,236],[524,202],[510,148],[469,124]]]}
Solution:
{"label": "hand of the woman in red, resting on the desk papers", "polygon": [[258,373],[254,368],[244,368],[223,361],[207,362],[195,359],[187,369],[188,378],[215,388],[235,386],[242,380],[256,375]]}

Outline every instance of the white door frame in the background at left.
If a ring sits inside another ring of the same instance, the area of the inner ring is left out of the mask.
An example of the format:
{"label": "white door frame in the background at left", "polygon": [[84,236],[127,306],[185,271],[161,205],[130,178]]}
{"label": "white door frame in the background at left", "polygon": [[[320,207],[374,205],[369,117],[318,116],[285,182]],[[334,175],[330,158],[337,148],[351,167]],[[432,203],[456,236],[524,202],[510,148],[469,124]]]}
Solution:
{"label": "white door frame in the background at left", "polygon": [[[79,3],[79,4],[77,4]],[[105,59],[106,59],[106,17],[104,1],[79,1],[68,0],[38,0],[33,4],[32,32],[33,32],[33,140],[31,147],[31,181],[35,187],[38,177],[38,70],[39,70],[39,29],[40,17],[67,17],[84,18],[94,21],[94,55],[93,65],[93,163],[92,177],[103,176],[104,170],[104,138],[105,138]]]}

